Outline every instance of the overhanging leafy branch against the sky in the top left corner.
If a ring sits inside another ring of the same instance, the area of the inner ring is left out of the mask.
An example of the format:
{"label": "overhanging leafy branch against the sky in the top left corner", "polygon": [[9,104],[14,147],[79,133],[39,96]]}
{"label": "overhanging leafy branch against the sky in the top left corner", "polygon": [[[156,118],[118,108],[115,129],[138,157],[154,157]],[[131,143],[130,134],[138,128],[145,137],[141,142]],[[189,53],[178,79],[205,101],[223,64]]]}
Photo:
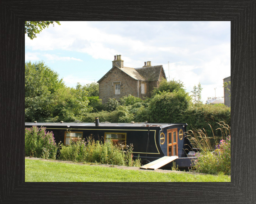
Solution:
{"label": "overhanging leafy branch against the sky in the top left corner", "polygon": [[39,34],[44,28],[48,28],[50,24],[53,24],[54,27],[54,22],[60,25],[59,21],[25,21],[25,34],[33,40],[37,37],[36,34]]}

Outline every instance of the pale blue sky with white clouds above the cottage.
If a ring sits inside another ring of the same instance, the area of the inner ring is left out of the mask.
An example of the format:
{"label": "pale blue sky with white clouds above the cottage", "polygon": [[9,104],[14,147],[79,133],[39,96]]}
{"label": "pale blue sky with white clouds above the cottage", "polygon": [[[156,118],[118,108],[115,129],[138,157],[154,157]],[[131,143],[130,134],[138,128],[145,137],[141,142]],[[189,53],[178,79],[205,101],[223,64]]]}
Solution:
{"label": "pale blue sky with white clouds above the cottage", "polygon": [[[25,34],[25,62],[44,61],[66,86],[97,82],[114,55],[125,67],[162,65],[167,80],[187,92],[202,86],[202,102],[223,97],[230,76],[230,21],[60,21],[31,40]],[[168,69],[169,61],[169,69]],[[214,90],[214,88],[216,88]],[[191,93],[192,94],[192,93]]]}

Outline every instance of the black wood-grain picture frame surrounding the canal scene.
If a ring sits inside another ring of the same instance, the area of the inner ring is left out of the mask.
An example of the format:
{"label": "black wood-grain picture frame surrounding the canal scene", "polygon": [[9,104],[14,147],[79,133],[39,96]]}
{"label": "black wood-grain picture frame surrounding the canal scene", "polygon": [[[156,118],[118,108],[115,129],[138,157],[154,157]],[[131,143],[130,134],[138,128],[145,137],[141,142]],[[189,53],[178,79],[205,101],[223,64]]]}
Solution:
{"label": "black wood-grain picture frame surrounding the canal scene", "polygon": [[[24,22],[31,20],[231,21],[231,182],[25,182]],[[255,0],[2,0],[0,203],[256,203],[255,65]]]}

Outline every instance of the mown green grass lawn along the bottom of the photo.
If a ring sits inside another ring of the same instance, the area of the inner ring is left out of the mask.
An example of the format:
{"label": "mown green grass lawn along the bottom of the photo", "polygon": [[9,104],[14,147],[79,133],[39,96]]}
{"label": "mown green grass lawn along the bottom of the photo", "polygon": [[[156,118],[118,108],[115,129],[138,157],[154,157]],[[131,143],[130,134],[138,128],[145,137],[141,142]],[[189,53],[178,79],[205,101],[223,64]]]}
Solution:
{"label": "mown green grass lawn along the bottom of the photo", "polygon": [[230,182],[230,177],[124,170],[25,159],[25,182]]}

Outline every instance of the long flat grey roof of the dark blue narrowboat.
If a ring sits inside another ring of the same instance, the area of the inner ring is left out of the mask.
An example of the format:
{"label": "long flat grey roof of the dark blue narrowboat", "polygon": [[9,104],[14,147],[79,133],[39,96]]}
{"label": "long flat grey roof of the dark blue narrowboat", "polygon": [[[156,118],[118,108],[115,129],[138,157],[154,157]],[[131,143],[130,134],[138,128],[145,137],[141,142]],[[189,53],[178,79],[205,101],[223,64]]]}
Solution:
{"label": "long flat grey roof of the dark blue narrowboat", "polygon": [[[161,126],[161,128],[166,128],[172,125],[185,125],[187,126],[186,123],[100,123],[100,126],[110,126],[110,127],[141,127],[145,125],[153,125],[153,126]],[[94,126],[95,123],[25,123],[25,125],[29,126]],[[152,126],[150,126],[152,127]]]}

